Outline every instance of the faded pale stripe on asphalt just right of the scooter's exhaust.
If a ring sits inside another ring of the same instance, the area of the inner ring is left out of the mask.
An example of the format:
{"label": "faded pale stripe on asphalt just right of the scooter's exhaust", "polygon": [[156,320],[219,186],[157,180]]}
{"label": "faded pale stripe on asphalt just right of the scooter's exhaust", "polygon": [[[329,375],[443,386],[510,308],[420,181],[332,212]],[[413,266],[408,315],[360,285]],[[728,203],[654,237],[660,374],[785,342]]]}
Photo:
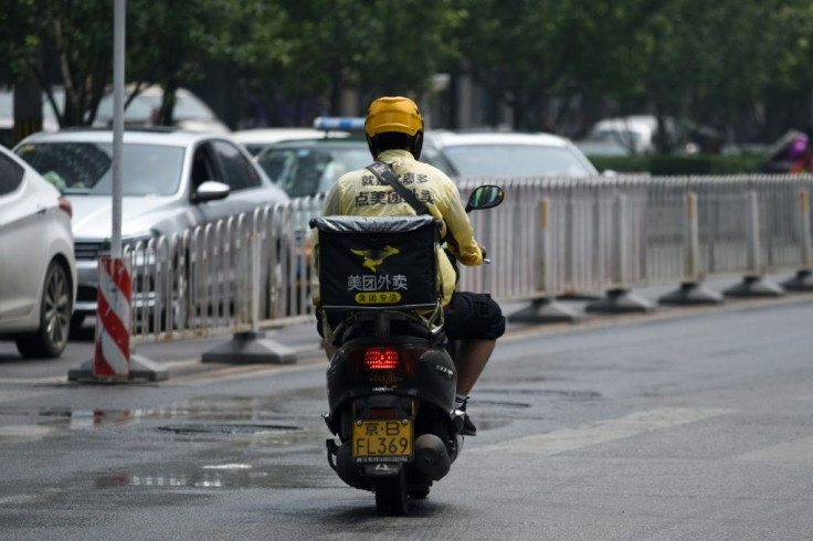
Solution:
{"label": "faded pale stripe on asphalt just right of the scooter's exhaust", "polygon": [[473,449],[473,452],[531,453],[534,455],[552,456],[673,426],[696,423],[727,413],[731,413],[731,411],[701,407],[658,407],[631,413],[624,417],[609,420],[596,425],[566,428],[548,434],[510,439]]}

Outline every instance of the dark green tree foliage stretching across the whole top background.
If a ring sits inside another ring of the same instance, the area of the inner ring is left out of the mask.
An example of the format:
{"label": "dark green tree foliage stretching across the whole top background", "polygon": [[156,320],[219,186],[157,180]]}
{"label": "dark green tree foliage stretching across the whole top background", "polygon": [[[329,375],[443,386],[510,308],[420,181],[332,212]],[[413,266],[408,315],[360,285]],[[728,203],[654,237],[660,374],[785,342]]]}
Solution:
{"label": "dark green tree foliage stretching across the whole top background", "polygon": [[[92,121],[112,81],[112,3],[0,0],[0,77],[63,84],[63,124]],[[128,82],[167,91],[219,65],[235,95],[337,113],[345,91],[420,99],[453,72],[516,129],[560,125],[579,99],[718,129],[790,103],[806,105],[780,121],[813,115],[810,0],[128,0],[127,18]]]}

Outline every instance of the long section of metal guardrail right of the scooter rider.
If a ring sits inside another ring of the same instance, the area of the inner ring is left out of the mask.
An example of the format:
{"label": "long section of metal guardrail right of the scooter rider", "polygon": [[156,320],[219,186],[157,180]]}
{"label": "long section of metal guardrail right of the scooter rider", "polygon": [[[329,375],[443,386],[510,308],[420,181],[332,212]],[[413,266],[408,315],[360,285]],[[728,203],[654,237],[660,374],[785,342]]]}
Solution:
{"label": "long section of metal guardrail right of the scooter rider", "polygon": [[534,299],[811,269],[813,176],[500,184],[506,203],[472,214],[493,264],[465,268],[463,289]]}

